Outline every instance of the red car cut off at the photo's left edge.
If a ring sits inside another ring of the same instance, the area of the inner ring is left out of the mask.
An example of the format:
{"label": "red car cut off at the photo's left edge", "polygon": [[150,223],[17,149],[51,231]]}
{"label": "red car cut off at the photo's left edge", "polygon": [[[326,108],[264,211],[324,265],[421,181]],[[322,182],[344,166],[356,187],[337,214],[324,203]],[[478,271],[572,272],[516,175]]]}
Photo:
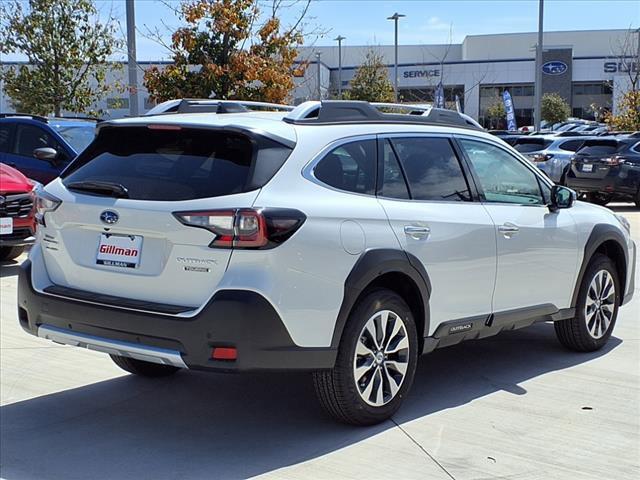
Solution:
{"label": "red car cut off at the photo's left edge", "polygon": [[0,261],[13,260],[35,240],[35,185],[0,163]]}

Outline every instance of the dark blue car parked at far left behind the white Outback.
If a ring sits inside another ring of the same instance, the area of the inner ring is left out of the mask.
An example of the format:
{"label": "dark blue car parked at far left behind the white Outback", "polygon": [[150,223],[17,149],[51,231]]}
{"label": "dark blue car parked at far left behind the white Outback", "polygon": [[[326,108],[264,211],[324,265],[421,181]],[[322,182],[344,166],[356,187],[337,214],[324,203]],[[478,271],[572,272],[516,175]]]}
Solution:
{"label": "dark blue car parked at far left behind the white Outback", "polygon": [[0,162],[47,184],[95,137],[96,120],[0,114]]}

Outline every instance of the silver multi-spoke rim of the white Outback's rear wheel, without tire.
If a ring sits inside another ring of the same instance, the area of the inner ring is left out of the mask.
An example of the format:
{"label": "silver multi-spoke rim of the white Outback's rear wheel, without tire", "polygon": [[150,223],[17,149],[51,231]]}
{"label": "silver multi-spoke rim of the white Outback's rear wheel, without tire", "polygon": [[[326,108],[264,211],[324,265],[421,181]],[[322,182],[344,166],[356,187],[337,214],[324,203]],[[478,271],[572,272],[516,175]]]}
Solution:
{"label": "silver multi-spoke rim of the white Outback's rear wheel, without tire", "polygon": [[376,312],[357,340],[353,376],[360,397],[380,407],[397,395],[409,365],[409,338],[402,318],[391,310]]}

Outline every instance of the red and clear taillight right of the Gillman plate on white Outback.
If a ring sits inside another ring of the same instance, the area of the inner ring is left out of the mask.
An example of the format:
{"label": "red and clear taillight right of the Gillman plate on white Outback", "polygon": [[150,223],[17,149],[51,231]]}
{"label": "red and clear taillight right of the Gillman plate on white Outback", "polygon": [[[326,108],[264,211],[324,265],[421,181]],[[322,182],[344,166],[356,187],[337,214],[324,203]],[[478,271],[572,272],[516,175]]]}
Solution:
{"label": "red and clear taillight right of the Gillman plate on white Outback", "polygon": [[273,248],[306,220],[302,212],[284,208],[198,210],[173,215],[184,225],[212,232],[212,248]]}

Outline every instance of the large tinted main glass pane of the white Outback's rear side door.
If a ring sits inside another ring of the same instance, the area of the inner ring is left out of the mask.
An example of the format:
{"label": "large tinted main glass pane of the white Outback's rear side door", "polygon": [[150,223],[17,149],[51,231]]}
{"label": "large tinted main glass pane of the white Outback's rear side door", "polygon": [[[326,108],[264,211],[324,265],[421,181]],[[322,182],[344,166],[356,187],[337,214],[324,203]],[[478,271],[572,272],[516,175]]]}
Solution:
{"label": "large tinted main glass pane of the white Outback's rear side door", "polygon": [[470,201],[471,192],[447,138],[393,138],[414,200]]}

